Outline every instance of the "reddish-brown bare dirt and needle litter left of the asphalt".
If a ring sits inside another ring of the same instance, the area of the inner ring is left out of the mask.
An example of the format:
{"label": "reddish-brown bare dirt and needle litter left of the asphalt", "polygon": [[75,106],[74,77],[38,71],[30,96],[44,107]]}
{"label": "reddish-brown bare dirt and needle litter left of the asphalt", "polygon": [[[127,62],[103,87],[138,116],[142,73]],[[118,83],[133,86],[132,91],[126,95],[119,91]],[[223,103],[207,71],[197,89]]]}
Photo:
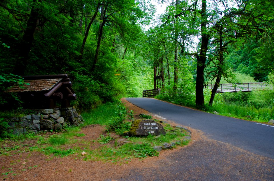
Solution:
{"label": "reddish-brown bare dirt and needle litter left of the asphalt", "polygon": [[[125,99],[122,99],[122,102],[129,110],[134,111],[135,119],[139,119],[138,115],[141,113],[149,114],[146,110],[134,106]],[[159,120],[158,117],[154,116],[153,118]],[[172,124],[172,122],[169,124]],[[82,141],[96,140],[104,131],[105,127],[100,125],[84,127],[79,133],[84,133],[85,136],[76,137],[75,139],[79,140],[75,141],[73,145],[64,147],[63,149],[81,147],[83,146],[81,145]],[[56,133],[47,132],[43,136],[50,137],[53,134]],[[119,139],[118,135],[112,136]],[[195,139],[193,133],[192,137]],[[113,143],[110,142],[108,144]],[[37,140],[26,140],[23,142],[7,141],[1,144],[1,147],[9,149],[9,154],[0,155],[0,178],[3,180],[106,180],[108,178],[117,178],[117,176],[128,172],[128,169],[148,167],[156,160],[164,159],[167,155],[178,150],[163,150],[158,157],[145,159],[132,158],[128,162],[112,163],[111,161],[86,161],[85,155],[73,154],[59,157],[53,156],[53,154],[45,155],[41,152],[27,149],[35,145],[37,145]],[[95,141],[90,146],[92,149],[97,149],[102,147],[102,144]]]}

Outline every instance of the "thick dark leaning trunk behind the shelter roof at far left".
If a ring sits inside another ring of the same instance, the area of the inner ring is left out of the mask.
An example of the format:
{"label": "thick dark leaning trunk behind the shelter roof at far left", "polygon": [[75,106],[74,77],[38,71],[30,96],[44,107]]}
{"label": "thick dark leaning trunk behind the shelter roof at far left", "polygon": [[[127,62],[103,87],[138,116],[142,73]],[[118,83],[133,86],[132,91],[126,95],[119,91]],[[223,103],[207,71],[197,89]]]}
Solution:
{"label": "thick dark leaning trunk behind the shelter roof at far left", "polygon": [[25,69],[28,64],[29,52],[31,51],[32,42],[34,40],[34,32],[37,26],[37,20],[39,16],[39,8],[37,8],[37,5],[35,5],[37,2],[41,2],[41,0],[33,0],[34,5],[31,8],[31,14],[27,22],[27,28],[21,42],[19,58],[17,59],[17,63],[15,64],[15,67],[13,69],[13,74],[16,75],[24,75]]}

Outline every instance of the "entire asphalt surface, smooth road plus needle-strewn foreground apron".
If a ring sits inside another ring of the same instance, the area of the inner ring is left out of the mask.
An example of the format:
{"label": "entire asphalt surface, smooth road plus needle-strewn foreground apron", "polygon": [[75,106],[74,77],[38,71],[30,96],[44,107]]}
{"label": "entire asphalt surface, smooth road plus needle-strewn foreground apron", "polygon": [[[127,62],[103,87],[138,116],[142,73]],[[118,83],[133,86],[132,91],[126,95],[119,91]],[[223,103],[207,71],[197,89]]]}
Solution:
{"label": "entire asphalt surface, smooth road plus needle-strewn foreground apron", "polygon": [[[202,139],[111,180],[274,180],[274,127],[205,113],[153,98],[132,104],[202,132]],[[140,168],[141,167],[141,168]]]}

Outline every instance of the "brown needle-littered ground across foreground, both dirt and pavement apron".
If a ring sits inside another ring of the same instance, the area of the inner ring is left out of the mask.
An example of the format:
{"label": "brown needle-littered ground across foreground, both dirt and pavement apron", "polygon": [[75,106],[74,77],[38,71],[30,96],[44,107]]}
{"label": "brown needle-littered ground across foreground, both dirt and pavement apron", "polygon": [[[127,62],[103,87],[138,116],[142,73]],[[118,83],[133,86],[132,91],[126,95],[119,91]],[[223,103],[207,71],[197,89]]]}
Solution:
{"label": "brown needle-littered ground across foreground, both dirt and pavement apron", "polygon": [[[149,114],[125,100],[122,101],[130,110],[134,110],[135,114]],[[103,130],[104,128],[98,125],[85,127],[81,133],[86,134],[87,137],[81,139],[92,140],[99,137]],[[149,157],[144,160],[132,159],[128,164],[121,165],[111,162],[84,161],[81,155],[60,158],[38,152],[14,151],[11,156],[0,156],[0,173],[13,171],[7,178],[5,175],[1,175],[1,178],[90,181],[274,180],[274,160],[249,153],[227,143],[207,139],[201,131],[193,129],[191,131],[192,141],[186,147],[162,151],[159,157]],[[96,145],[91,146],[96,147]]]}

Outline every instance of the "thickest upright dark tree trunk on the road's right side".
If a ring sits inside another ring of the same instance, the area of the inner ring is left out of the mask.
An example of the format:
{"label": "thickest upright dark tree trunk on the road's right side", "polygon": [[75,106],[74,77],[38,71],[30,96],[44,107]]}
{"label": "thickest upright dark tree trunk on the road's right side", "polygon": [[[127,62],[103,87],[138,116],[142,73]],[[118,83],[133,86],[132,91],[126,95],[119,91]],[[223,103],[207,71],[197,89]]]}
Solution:
{"label": "thickest upright dark tree trunk on the road's right side", "polygon": [[196,55],[197,57],[197,77],[196,77],[196,106],[201,107],[204,106],[205,98],[204,98],[204,69],[206,63],[206,52],[209,36],[207,35],[206,25],[207,25],[207,13],[206,13],[206,0],[202,1],[202,10],[201,10],[202,22],[201,22],[201,50],[200,55]]}

